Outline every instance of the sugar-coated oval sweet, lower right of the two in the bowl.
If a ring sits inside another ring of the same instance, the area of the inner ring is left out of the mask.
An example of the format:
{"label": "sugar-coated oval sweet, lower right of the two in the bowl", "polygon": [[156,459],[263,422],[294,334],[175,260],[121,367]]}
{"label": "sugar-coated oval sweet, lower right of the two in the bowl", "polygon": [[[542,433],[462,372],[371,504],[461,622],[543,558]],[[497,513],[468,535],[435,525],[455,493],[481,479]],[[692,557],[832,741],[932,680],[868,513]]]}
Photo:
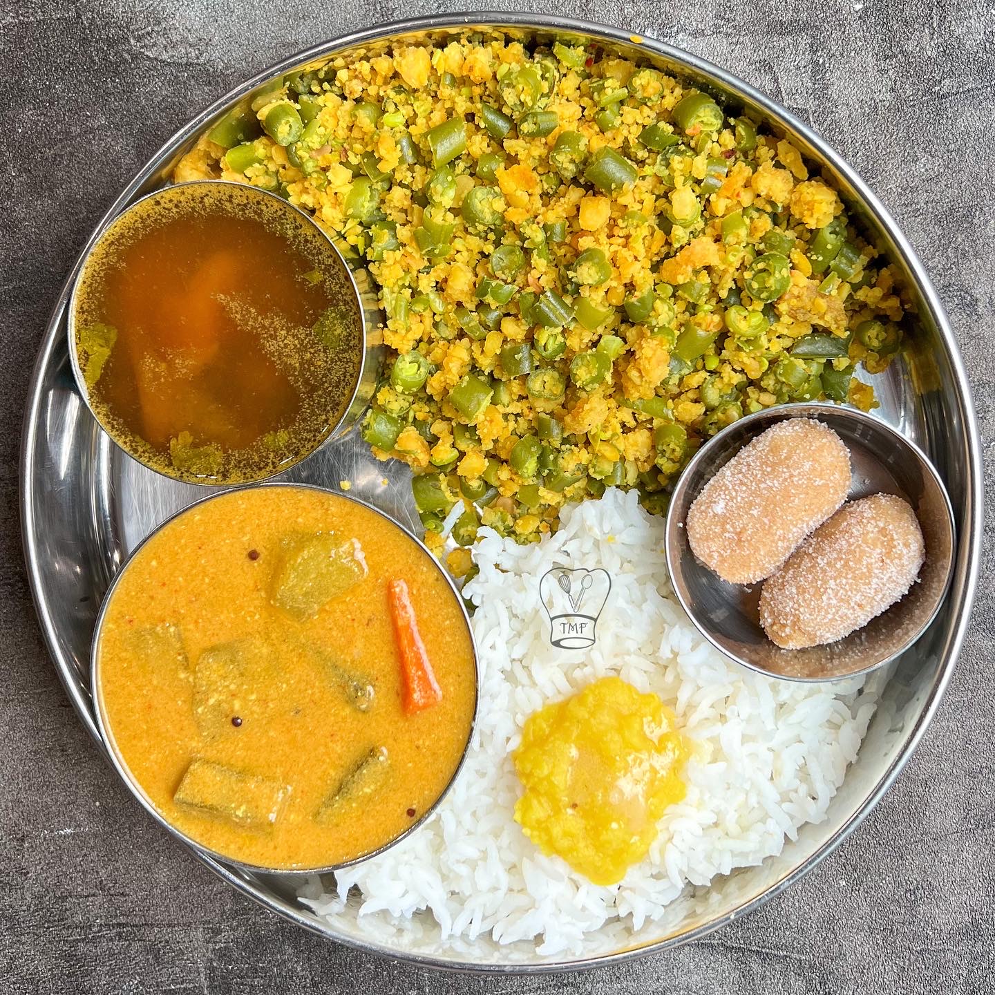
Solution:
{"label": "sugar-coated oval sweet, lower right of the two in the bowl", "polygon": [[922,529],[906,500],[851,501],[764,582],[760,624],[784,650],[835,643],[904,597],[924,561]]}

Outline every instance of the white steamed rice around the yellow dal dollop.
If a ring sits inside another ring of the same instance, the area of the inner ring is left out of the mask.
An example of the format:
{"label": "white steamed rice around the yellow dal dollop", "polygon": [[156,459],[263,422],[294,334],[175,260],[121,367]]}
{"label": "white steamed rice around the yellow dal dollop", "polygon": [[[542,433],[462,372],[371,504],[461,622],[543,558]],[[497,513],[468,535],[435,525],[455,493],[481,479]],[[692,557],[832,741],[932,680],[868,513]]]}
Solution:
{"label": "white steamed rice around the yellow dal dollop", "polygon": [[[465,592],[478,606],[481,687],[464,769],[423,827],[339,872],[334,891],[308,880],[303,901],[334,922],[357,890],[361,921],[381,938],[415,931],[462,945],[488,936],[576,954],[585,933],[611,927],[631,936],[683,894],[779,854],[799,827],[825,818],[877,694],[859,681],[794,684],[727,662],[670,590],[663,533],[663,519],[617,490],[565,509],[559,530],[538,544],[482,531],[480,574]],[[556,565],[611,575],[589,650],[550,643],[538,584]],[[649,857],[603,888],[522,834],[512,817],[520,787],[511,753],[531,712],[611,674],[662,697],[697,748],[687,797],[668,809]]]}

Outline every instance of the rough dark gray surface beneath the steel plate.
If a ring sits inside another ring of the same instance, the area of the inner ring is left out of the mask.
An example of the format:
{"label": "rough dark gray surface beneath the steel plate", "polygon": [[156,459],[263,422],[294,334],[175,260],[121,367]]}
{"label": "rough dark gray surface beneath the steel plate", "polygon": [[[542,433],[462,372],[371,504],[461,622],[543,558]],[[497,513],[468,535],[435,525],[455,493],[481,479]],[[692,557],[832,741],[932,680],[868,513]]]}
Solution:
{"label": "rough dark gray surface beneath the steel plate", "polygon": [[[148,155],[246,76],[318,39],[468,5],[5,0],[0,6],[0,991],[991,991],[990,537],[971,633],[949,691],[895,787],[856,836],[788,894],[729,928],[591,975],[431,974],[298,931],[230,892],[141,815],[74,717],[39,637],[17,521],[30,365],[71,261]],[[843,151],[896,215],[950,311],[974,382],[990,484],[995,20],[989,0],[533,6],[685,47],[783,101]]]}

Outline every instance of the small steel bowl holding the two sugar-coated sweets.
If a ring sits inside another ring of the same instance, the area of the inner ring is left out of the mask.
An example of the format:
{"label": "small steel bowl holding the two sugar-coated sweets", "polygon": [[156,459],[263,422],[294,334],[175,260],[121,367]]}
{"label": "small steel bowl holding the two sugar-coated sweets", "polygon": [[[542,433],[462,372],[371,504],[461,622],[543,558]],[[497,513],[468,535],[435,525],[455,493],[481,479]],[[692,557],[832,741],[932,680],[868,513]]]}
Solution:
{"label": "small steel bowl holding the two sugar-coated sweets", "polygon": [[[850,450],[850,499],[882,493],[904,497],[915,509],[925,540],[925,563],[904,598],[845,639],[805,650],[782,650],[767,639],[757,609],[762,584],[730,584],[712,573],[698,562],[685,528],[704,485],[750,440],[788,418],[815,418],[833,429]],[[857,677],[904,653],[940,609],[953,573],[953,548],[950,498],[922,451],[879,418],[833,404],[787,404],[733,422],[697,451],[667,514],[668,570],[698,631],[743,667],[792,681]]]}

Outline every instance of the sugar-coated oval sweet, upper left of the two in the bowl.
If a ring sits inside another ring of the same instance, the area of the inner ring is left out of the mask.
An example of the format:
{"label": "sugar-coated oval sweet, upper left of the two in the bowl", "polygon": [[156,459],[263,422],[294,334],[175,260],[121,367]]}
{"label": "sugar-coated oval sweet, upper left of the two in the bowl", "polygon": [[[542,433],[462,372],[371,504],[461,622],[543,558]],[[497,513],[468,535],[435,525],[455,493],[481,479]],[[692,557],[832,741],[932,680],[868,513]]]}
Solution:
{"label": "sugar-coated oval sweet, upper left of the two in the bowl", "polygon": [[769,577],[847,499],[850,452],[822,422],[791,418],[744,446],[688,511],[688,541],[732,584]]}

